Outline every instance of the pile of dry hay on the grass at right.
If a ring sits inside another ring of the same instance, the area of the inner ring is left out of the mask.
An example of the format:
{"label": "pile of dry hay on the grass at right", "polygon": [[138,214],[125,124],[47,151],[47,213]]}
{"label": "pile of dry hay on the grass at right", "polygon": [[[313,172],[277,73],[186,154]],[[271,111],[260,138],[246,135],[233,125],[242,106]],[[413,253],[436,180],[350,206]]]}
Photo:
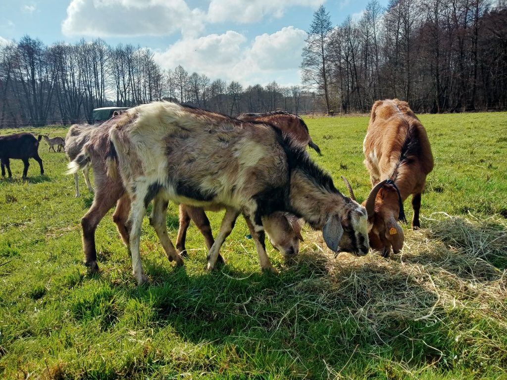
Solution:
{"label": "pile of dry hay on the grass at right", "polygon": [[[444,326],[448,334],[456,333],[456,342],[468,339],[463,353],[474,347],[498,365],[498,358],[507,357],[501,337],[507,331],[507,273],[492,262],[505,268],[507,222],[499,216],[479,220],[435,213],[423,226],[418,231],[405,226],[404,249],[390,258],[376,253],[335,257],[320,232],[307,231],[298,260],[316,275],[296,286],[323,292],[320,309],[348,305],[349,315],[374,331],[376,344],[392,338],[386,326],[394,324],[403,334],[404,326],[420,321]],[[459,323],[449,318],[453,312]],[[488,326],[488,334],[491,326],[490,336],[477,332],[475,323]]]}

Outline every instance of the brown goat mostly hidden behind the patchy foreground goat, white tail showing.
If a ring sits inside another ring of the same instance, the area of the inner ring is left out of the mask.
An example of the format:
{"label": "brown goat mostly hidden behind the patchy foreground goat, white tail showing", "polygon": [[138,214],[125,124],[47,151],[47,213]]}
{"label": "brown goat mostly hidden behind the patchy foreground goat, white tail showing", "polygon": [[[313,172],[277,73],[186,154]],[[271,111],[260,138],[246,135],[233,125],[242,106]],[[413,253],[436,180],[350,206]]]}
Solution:
{"label": "brown goat mostly hidden behind the patchy foreground goat, white tail showing", "polygon": [[[81,219],[85,265],[91,273],[98,272],[95,230],[100,220],[102,220],[107,211],[115,203],[117,206],[113,214],[113,220],[125,245],[128,247],[130,244],[130,226],[127,221],[130,211],[130,198],[125,193],[122,181],[106,174],[106,152],[110,145],[109,130],[115,123],[115,119],[113,118],[101,124],[100,128],[92,128],[91,133],[87,134],[88,142],[84,144],[81,152],[68,165],[69,174],[77,174],[79,170],[83,170],[87,166],[90,166],[94,172],[95,194],[93,204]],[[213,236],[211,235],[209,220],[207,220],[204,210],[202,208],[194,209],[191,206],[185,207],[184,205],[180,206],[180,208],[183,208],[183,214],[180,215],[190,215],[203,234],[208,248],[211,247]],[[155,200],[150,224],[154,226],[169,261],[175,260],[177,265],[182,265],[183,260],[175,252],[167,235],[166,212],[167,203]],[[297,228],[296,224],[293,226],[292,220],[289,217],[276,213],[267,217],[266,220],[271,226],[271,228],[267,228],[266,232],[270,236],[273,246],[284,249],[284,253],[287,254],[296,253],[299,249],[299,241],[295,237],[296,233],[293,231],[293,229]],[[179,235],[178,241],[181,241],[179,240]],[[185,237],[183,237],[184,245]],[[219,257],[219,259],[223,261],[222,257]]]}

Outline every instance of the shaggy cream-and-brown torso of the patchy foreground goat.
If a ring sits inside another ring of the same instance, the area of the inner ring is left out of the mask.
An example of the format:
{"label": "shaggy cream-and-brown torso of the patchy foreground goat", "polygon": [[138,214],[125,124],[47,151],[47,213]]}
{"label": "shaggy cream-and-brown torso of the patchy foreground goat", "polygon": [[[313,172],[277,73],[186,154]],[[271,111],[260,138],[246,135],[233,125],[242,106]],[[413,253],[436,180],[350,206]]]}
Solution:
{"label": "shaggy cream-and-brown torso of the patchy foreground goat", "polygon": [[150,178],[182,203],[232,205],[235,194],[240,202],[288,181],[281,133],[269,125],[157,102],[118,117],[111,135],[126,186]]}

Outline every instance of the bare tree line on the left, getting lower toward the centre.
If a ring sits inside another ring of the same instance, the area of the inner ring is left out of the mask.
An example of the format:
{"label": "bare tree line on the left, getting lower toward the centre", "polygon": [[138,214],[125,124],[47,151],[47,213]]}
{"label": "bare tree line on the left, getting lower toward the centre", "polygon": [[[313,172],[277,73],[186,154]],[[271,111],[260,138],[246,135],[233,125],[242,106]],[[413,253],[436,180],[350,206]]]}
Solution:
{"label": "bare tree line on the left, getting lower toward the centre", "polygon": [[229,115],[311,110],[315,95],[300,86],[243,87],[211,81],[181,65],[164,70],[150,49],[102,40],[44,45],[24,36],[0,46],[0,128],[93,122],[94,108],[168,99]]}

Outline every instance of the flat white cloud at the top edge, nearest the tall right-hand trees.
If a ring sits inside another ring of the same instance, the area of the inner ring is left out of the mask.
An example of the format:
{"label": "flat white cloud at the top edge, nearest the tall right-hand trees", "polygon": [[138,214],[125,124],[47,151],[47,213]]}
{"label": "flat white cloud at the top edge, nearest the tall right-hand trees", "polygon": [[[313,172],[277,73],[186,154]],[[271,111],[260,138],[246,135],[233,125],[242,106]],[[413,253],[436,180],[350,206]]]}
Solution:
{"label": "flat white cloud at the top edge, nearest the tall right-hand trees", "polygon": [[316,8],[325,0],[211,0],[209,22],[251,23],[265,16],[280,18],[285,9],[293,6]]}

